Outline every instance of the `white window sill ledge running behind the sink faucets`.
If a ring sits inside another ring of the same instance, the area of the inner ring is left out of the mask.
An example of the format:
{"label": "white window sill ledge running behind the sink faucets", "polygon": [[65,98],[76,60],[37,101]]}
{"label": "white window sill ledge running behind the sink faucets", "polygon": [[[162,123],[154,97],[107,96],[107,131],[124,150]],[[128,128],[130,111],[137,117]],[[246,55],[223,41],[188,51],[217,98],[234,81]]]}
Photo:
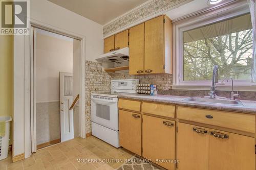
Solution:
{"label": "white window sill ledge running behind the sink faucets", "polygon": [[[173,90],[210,90],[210,85],[171,85]],[[231,91],[231,85],[217,85],[217,90]],[[255,85],[234,85],[234,91],[256,91]]]}

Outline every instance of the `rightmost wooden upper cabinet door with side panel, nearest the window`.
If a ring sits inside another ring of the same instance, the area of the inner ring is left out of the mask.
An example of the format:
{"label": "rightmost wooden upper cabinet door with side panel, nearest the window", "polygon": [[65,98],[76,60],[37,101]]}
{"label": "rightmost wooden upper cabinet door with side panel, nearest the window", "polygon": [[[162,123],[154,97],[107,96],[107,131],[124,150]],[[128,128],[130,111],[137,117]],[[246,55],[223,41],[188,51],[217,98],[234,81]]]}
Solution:
{"label": "rightmost wooden upper cabinet door with side panel, nearest the window", "polygon": [[167,16],[145,22],[144,53],[145,74],[172,74],[172,22]]}

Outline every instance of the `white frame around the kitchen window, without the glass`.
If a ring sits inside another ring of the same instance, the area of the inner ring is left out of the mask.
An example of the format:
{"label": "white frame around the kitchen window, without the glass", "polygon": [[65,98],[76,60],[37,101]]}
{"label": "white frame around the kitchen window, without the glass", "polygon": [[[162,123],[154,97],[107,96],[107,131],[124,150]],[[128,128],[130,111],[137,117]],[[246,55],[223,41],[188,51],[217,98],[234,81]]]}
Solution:
{"label": "white frame around the kitchen window, without the glass", "polygon": [[[219,9],[210,9],[201,14],[197,14],[186,19],[174,22],[174,70],[173,70],[173,89],[209,89],[211,81],[183,81],[183,32],[195,28],[203,27],[211,23],[229,19],[232,17],[249,13],[249,6],[245,2],[241,4],[232,4]],[[222,80],[219,80],[221,82]],[[256,91],[256,83],[250,80],[234,80],[235,90],[246,90],[253,87]],[[218,86],[218,85],[217,85]],[[219,85],[219,90],[227,90],[231,86],[231,81]]]}

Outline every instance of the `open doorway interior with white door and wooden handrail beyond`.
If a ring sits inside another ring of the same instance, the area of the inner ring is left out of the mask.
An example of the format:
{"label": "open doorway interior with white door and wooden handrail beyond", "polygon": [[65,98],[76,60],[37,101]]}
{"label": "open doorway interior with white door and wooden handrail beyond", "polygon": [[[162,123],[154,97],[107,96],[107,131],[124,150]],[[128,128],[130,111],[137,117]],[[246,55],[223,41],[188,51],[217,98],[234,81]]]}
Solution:
{"label": "open doorway interior with white door and wooden handrail beyond", "polygon": [[80,40],[33,27],[32,152],[79,136],[80,58]]}

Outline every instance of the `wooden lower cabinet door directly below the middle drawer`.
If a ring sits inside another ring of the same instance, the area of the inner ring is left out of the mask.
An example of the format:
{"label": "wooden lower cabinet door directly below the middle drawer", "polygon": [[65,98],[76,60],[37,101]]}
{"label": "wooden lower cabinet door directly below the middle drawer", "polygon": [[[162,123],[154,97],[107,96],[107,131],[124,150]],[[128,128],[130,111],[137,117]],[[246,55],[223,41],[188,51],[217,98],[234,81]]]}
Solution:
{"label": "wooden lower cabinet door directly below the middle drawer", "polygon": [[143,115],[142,126],[143,157],[151,159],[166,169],[175,169],[174,163],[161,162],[175,159],[175,122]]}

